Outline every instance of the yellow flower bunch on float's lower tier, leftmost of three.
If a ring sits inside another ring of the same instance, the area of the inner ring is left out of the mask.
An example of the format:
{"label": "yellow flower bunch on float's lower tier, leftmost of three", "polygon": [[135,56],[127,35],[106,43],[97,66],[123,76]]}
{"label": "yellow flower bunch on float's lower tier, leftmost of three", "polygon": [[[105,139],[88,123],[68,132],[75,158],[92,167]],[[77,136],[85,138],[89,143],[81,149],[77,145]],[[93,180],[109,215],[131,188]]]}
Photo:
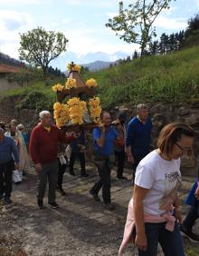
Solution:
{"label": "yellow flower bunch on float's lower tier, leftmost of three", "polygon": [[70,121],[69,106],[67,104],[54,103],[53,110],[54,110],[54,119],[58,127],[62,127],[63,125],[66,125],[66,123]]}

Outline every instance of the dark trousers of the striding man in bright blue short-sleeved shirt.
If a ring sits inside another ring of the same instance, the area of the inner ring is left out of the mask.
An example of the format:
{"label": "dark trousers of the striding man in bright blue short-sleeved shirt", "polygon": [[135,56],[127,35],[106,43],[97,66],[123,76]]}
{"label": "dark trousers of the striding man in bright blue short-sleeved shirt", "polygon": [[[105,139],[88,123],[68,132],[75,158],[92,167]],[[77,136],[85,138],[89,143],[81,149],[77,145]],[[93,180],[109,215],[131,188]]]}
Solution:
{"label": "dark trousers of the striding man in bright blue short-sleeved shirt", "polygon": [[98,172],[100,175],[100,181],[96,182],[94,186],[91,188],[90,192],[92,194],[98,194],[102,187],[102,198],[104,203],[111,202],[110,200],[110,172],[111,166],[109,159],[95,161],[95,164],[98,168]]}

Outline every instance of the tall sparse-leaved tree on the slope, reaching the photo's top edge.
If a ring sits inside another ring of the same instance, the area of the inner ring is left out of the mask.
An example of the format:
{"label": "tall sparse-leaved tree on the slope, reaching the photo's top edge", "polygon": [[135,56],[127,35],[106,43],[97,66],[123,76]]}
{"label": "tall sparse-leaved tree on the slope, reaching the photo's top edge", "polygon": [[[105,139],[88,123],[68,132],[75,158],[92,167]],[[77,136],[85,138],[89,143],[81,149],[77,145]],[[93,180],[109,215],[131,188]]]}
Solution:
{"label": "tall sparse-leaved tree on the slope, reaching the photo's top edge", "polygon": [[[163,9],[169,9],[172,0],[137,0],[135,4],[124,8],[123,2],[119,2],[118,15],[109,19],[106,24],[120,39],[127,43],[140,44],[141,56],[147,52],[147,44],[156,36],[154,24],[157,15]],[[174,0],[175,1],[175,0]]]}

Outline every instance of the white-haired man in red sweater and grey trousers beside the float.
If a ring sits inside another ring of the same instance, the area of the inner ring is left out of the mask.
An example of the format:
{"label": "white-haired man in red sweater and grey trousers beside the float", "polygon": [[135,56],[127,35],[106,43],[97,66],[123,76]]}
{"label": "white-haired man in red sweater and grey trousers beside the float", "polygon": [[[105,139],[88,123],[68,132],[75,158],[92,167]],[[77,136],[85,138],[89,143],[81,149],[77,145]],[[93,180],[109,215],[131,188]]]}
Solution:
{"label": "white-haired man in red sweater and grey trousers beside the float", "polygon": [[29,152],[38,174],[37,204],[43,209],[43,197],[47,180],[49,182],[48,203],[52,208],[58,208],[55,202],[55,192],[58,179],[58,143],[71,143],[78,137],[78,133],[66,136],[56,126],[52,125],[49,111],[39,113],[41,123],[33,128],[31,133]]}

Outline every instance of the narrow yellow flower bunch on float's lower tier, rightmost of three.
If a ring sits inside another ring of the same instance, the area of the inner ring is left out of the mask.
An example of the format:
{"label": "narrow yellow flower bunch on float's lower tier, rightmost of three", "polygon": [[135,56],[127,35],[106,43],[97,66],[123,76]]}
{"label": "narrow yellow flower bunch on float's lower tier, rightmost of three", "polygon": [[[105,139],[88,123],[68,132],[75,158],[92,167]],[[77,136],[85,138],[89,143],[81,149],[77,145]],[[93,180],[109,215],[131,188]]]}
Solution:
{"label": "narrow yellow flower bunch on float's lower tier, rightmost of three", "polygon": [[90,106],[90,116],[93,118],[94,123],[100,123],[100,113],[101,113],[101,107],[100,107],[100,98],[99,97],[93,97],[89,101]]}

